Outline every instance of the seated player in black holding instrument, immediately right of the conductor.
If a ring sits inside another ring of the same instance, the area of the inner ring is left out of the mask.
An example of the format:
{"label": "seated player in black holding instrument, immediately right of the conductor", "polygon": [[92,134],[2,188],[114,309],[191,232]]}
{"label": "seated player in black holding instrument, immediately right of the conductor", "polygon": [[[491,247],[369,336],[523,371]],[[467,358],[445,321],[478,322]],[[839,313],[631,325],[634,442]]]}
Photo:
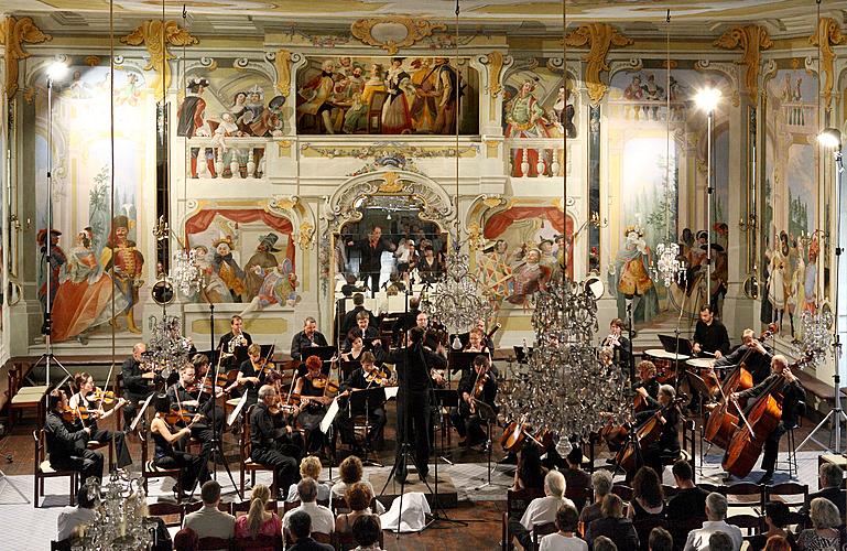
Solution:
{"label": "seated player in black holding instrument, immediately right of the conductor", "polygon": [[475,446],[487,442],[478,403],[484,402],[497,412],[497,377],[491,372],[491,360],[479,355],[474,358],[474,369],[467,370],[459,381],[459,406],[450,412],[450,421],[463,441],[460,446]]}

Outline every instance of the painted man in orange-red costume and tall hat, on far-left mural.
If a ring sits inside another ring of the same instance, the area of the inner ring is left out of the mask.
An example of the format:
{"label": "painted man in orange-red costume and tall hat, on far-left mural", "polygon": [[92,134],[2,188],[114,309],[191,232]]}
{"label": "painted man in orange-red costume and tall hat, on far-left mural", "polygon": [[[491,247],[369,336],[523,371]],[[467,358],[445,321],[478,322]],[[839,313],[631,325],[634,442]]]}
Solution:
{"label": "painted man in orange-red costume and tall hat, on far-left mural", "polygon": [[116,315],[111,323],[117,327],[119,325],[118,316],[124,315],[127,329],[132,333],[141,333],[141,329],[135,326],[132,307],[138,303],[138,290],[144,283],[141,280],[144,257],[135,248],[135,241],[128,239],[129,223],[129,218],[124,215],[115,217],[106,247],[102,249],[100,266],[105,271],[111,270],[112,266],[115,267],[115,295],[116,298],[120,295],[126,301],[126,306],[122,310],[115,310]]}

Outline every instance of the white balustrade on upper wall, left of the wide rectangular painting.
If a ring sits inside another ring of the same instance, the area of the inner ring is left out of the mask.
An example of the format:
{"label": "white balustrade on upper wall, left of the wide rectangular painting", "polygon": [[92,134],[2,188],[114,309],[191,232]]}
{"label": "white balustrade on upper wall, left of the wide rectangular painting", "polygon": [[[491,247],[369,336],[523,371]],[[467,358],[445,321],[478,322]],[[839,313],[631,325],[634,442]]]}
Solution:
{"label": "white balustrade on upper wall, left of the wide rectangular painting", "polygon": [[191,179],[261,179],[264,176],[267,138],[192,138]]}

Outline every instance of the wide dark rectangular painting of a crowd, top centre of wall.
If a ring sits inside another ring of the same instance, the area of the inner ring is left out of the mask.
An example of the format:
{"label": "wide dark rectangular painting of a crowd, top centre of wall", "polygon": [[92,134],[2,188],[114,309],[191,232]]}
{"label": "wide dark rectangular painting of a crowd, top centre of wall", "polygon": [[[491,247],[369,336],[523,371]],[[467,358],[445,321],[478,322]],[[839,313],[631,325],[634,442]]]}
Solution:
{"label": "wide dark rectangular painting of a crowd, top centre of wall", "polygon": [[[458,88],[458,104],[456,90]],[[310,57],[297,72],[297,133],[478,132],[479,78],[447,57]]]}

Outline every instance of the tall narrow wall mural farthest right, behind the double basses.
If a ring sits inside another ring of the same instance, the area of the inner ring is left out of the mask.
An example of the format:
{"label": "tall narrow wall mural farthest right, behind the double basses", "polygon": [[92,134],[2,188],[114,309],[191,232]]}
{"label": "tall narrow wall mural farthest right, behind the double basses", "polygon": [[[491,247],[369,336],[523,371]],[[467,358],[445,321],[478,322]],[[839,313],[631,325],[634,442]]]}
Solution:
{"label": "tall narrow wall mural farthest right, behind the double basses", "polygon": [[801,338],[800,314],[819,304],[817,75],[783,60],[765,84],[761,322]]}

